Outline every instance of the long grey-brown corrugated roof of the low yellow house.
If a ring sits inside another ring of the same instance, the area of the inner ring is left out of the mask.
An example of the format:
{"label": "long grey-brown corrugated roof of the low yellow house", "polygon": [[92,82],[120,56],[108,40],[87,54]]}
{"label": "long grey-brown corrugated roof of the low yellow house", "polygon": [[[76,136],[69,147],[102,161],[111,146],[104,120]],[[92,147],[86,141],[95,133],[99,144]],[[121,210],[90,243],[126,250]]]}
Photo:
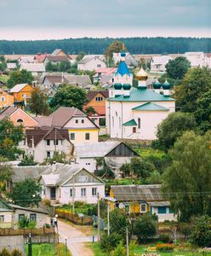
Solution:
{"label": "long grey-brown corrugated roof of the low yellow house", "polygon": [[116,201],[162,201],[161,185],[111,185]]}

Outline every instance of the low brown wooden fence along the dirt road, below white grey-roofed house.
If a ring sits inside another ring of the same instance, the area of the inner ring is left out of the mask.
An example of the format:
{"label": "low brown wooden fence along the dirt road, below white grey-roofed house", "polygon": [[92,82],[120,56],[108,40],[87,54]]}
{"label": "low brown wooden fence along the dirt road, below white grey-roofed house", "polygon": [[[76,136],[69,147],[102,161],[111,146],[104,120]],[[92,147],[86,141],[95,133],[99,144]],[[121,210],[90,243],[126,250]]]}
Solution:
{"label": "low brown wooden fence along the dirt road, below white grey-roofed house", "polygon": [[71,212],[63,212],[62,210],[59,210],[59,209],[55,209],[55,213],[58,214],[59,218],[66,219],[73,224],[77,224],[77,225],[93,224],[93,218],[89,216],[78,217],[77,215],[72,214]]}

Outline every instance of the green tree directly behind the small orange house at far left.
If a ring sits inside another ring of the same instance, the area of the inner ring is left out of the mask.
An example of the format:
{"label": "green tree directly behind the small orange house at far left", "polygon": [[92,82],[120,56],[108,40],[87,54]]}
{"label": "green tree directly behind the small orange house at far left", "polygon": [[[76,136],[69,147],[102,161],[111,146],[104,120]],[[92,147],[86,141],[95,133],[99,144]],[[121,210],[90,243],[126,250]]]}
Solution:
{"label": "green tree directly behind the small orange house at far left", "polygon": [[15,70],[9,74],[8,87],[14,87],[15,84],[32,84],[34,78],[31,72],[26,69]]}

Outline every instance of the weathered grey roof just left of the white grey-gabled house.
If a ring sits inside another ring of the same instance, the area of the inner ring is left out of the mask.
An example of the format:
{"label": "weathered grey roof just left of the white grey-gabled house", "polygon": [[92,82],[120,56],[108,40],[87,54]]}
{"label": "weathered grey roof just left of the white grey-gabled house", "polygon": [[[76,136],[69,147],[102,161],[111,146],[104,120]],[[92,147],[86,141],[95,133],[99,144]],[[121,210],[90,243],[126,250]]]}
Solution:
{"label": "weathered grey roof just left of the white grey-gabled house", "polygon": [[12,182],[20,183],[26,178],[38,180],[41,174],[47,170],[49,166],[13,166],[12,167]]}

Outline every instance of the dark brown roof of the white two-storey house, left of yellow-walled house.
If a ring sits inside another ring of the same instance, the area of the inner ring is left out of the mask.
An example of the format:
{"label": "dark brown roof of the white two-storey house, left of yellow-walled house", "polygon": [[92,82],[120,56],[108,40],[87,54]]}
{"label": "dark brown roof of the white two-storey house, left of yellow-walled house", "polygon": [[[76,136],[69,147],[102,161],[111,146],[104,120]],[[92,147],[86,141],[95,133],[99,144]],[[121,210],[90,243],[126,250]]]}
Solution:
{"label": "dark brown roof of the white two-storey house, left of yellow-walled house", "polygon": [[34,145],[37,146],[42,140],[68,140],[69,133],[68,130],[59,130],[57,128],[52,127],[41,127],[36,129],[28,129],[26,130],[26,138],[27,138],[27,145],[29,147],[32,146],[32,138],[34,139]]}

